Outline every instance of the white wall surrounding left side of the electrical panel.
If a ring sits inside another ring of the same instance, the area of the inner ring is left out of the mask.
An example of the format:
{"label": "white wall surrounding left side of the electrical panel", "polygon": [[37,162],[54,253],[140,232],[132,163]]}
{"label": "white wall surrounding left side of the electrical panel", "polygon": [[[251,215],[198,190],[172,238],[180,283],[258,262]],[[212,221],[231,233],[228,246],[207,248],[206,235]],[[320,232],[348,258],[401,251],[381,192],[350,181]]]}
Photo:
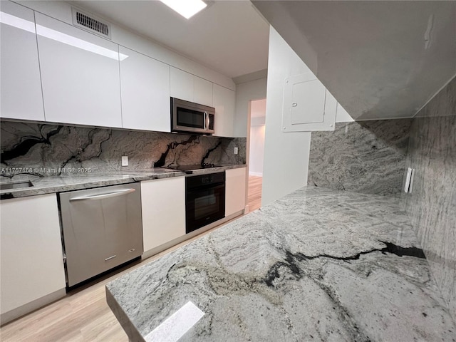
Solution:
{"label": "white wall surrounding left side of the electrical panel", "polygon": [[270,26],[261,205],[304,187],[307,183],[311,133],[282,133],[281,114],[285,78],[309,71],[301,58]]}

